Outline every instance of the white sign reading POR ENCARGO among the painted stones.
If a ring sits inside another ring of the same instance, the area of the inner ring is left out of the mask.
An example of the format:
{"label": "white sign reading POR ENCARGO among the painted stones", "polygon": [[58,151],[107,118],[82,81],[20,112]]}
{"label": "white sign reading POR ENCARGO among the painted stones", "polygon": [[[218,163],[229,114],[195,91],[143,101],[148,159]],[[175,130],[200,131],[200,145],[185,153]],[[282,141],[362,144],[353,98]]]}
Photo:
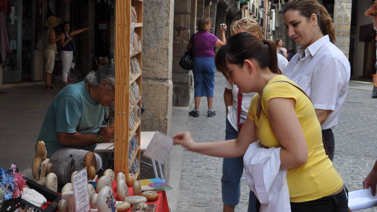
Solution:
{"label": "white sign reading POR ENCARGO among the painted stones", "polygon": [[73,194],[76,212],[90,211],[88,175],[86,167],[77,172],[73,177]]}

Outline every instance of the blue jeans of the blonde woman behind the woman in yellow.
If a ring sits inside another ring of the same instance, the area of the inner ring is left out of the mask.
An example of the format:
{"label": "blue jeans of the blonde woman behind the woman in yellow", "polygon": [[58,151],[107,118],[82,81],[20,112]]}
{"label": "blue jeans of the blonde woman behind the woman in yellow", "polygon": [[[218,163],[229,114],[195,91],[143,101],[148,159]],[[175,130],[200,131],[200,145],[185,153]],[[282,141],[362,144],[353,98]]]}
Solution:
{"label": "blue jeans of the blonde woman behind the woman in yellow", "polygon": [[[237,138],[237,131],[233,128],[227,120],[225,129],[225,140]],[[244,157],[224,158],[222,161],[222,177],[221,177],[221,191],[222,202],[228,206],[236,206],[239,204],[241,196],[241,177],[244,173]],[[249,194],[248,212],[256,212],[256,200],[254,192]]]}

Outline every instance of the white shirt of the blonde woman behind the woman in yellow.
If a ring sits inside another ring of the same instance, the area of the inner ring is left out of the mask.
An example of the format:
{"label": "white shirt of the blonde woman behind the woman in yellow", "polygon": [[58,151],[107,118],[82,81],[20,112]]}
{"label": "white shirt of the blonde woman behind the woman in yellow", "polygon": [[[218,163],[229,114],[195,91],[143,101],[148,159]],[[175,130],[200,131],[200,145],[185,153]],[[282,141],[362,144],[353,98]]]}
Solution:
{"label": "white shirt of the blonde woman behind the woman in yellow", "polygon": [[[285,70],[285,67],[288,65],[288,60],[284,56],[277,54],[277,68],[280,69],[281,72]],[[233,86],[229,83],[228,80],[224,81],[225,88],[232,90],[233,94],[233,104],[232,106],[228,106],[228,121],[233,126],[235,130],[238,130],[237,126],[237,111],[238,111],[238,87],[237,85],[233,84]],[[242,106],[241,106],[241,117],[239,123],[244,123],[247,118],[247,113],[249,111],[251,99],[256,94],[253,93],[242,93]]]}

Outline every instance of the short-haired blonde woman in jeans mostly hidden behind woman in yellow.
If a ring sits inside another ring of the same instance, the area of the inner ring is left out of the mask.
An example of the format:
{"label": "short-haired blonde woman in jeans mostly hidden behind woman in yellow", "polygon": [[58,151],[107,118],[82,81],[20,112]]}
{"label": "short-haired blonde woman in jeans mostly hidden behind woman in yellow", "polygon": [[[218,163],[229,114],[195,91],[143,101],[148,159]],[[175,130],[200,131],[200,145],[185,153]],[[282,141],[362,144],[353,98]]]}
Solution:
{"label": "short-haired blonde woman in jeans mostly hidden behind woman in yellow", "polygon": [[[257,37],[264,39],[261,26],[250,18],[242,18],[235,21],[230,27],[230,34],[234,35],[239,32],[251,32]],[[277,66],[283,71],[288,64],[286,58],[277,54]],[[247,112],[250,106],[253,93],[242,93],[236,84],[224,81],[224,102],[227,111],[225,120],[225,140],[236,139],[238,131],[247,118]],[[241,197],[241,177],[244,172],[243,157],[224,158],[222,162],[222,202],[223,212],[233,212],[236,205],[239,204]],[[250,191],[248,211],[255,212],[256,196]]]}

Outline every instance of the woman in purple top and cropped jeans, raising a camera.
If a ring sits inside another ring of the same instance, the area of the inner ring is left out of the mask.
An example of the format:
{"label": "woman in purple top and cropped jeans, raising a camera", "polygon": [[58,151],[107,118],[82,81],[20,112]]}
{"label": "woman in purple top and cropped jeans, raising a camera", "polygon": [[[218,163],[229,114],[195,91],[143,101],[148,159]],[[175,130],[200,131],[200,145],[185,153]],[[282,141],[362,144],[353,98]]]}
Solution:
{"label": "woman in purple top and cropped jeans, raising a camera", "polygon": [[194,99],[195,108],[189,112],[193,117],[199,116],[200,97],[207,97],[208,112],[207,115],[212,117],[216,112],[212,108],[213,89],[215,88],[215,46],[221,47],[225,45],[225,24],[221,27],[221,40],[215,35],[210,34],[211,18],[199,18],[198,32],[194,34],[187,48],[194,48],[194,67],[192,73],[194,75]]}

